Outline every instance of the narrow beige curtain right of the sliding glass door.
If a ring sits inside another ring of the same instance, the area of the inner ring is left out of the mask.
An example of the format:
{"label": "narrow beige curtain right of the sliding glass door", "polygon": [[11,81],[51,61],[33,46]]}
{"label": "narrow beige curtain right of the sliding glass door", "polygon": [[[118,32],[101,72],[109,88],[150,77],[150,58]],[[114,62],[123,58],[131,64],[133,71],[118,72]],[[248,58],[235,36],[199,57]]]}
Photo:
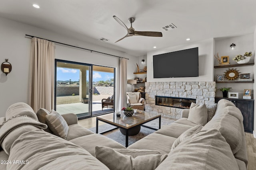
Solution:
{"label": "narrow beige curtain right of the sliding glass door", "polygon": [[126,107],[126,85],[127,85],[127,71],[126,71],[126,64],[127,59],[120,58],[120,66],[119,66],[119,100],[117,103],[117,111],[121,111],[122,107]]}

